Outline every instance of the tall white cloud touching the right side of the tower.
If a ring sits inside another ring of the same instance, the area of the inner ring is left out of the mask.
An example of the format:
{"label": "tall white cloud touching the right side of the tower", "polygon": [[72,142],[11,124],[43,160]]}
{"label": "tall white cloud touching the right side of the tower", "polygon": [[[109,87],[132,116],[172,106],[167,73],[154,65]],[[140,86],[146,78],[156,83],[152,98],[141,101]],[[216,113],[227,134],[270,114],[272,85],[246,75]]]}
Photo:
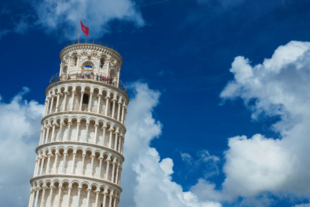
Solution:
{"label": "tall white cloud touching the right side of the tower", "polygon": [[146,84],[136,82],[126,118],[126,141],[124,144],[122,187],[120,206],[189,206],[217,207],[216,201],[201,201],[191,191],[172,181],[173,160],[161,159],[155,148],[149,147],[152,139],[161,135],[162,124],[152,117],[159,103],[160,92]]}

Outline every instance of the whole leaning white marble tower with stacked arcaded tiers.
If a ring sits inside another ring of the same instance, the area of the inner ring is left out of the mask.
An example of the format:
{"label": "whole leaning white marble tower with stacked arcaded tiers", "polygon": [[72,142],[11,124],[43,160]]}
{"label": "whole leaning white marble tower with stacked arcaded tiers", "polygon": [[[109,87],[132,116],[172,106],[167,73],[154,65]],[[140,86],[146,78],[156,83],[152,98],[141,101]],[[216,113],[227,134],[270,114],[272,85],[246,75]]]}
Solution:
{"label": "whole leaning white marble tower with stacked arcaded tiers", "polygon": [[29,207],[117,207],[126,107],[123,63],[100,41],[70,42],[46,89]]}

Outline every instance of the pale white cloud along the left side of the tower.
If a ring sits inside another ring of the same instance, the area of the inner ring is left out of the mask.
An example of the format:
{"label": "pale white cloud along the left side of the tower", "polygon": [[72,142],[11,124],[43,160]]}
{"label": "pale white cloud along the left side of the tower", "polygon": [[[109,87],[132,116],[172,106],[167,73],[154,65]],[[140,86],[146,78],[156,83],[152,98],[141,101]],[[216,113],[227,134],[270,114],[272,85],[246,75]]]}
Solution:
{"label": "pale white cloud along the left side of the tower", "polygon": [[[27,101],[22,92],[6,103],[0,98],[0,200],[2,206],[25,206],[28,202],[35,152],[40,138],[44,105]],[[17,190],[18,189],[18,190]]]}

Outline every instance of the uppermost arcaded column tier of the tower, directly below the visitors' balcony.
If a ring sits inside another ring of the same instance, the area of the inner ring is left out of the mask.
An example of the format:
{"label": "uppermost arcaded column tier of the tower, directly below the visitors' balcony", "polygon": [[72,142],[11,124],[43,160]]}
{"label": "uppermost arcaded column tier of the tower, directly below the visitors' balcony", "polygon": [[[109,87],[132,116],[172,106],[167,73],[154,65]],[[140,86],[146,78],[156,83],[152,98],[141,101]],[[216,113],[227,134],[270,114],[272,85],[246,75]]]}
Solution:
{"label": "uppermost arcaded column tier of the tower, directly below the visitors' balcony", "polygon": [[[83,82],[81,83],[81,81]],[[126,99],[128,98],[120,92],[111,91],[104,86],[90,86],[90,83],[98,83],[98,81],[80,80],[74,82],[47,89],[45,116],[65,111],[83,111],[104,115],[125,125]]]}

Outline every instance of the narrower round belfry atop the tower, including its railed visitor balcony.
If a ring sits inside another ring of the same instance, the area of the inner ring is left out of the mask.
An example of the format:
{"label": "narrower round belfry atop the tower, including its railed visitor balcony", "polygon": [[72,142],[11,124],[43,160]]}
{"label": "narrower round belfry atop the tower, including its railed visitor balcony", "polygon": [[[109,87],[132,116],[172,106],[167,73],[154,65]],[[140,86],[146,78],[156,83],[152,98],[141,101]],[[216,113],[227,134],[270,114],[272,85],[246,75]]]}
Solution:
{"label": "narrower round belfry atop the tower, including its railed visitor balcony", "polygon": [[61,50],[60,61],[59,73],[52,76],[50,85],[65,80],[93,80],[127,92],[120,80],[123,59],[112,45],[97,40],[71,41]]}

